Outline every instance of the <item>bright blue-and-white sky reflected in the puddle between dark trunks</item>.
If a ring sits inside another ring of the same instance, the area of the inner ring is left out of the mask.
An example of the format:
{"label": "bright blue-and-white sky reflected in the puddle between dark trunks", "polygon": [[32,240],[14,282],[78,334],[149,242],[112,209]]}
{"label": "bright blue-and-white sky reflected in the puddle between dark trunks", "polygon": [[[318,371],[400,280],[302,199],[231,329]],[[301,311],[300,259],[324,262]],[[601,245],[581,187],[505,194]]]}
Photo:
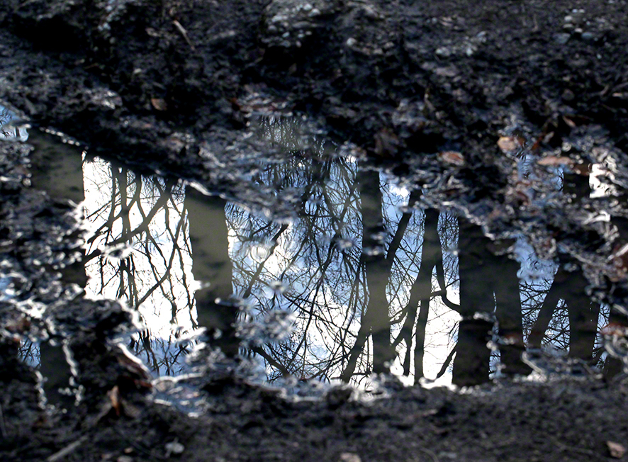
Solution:
{"label": "bright blue-and-white sky reflected in the puddle between dark trunks", "polygon": [[[265,126],[275,142],[294,131],[281,131],[273,122]],[[396,357],[387,360],[388,368],[405,383],[418,381],[417,371],[430,381],[452,383],[458,325],[465,316],[459,310],[458,258],[459,252],[470,251],[459,248],[459,219],[434,211],[428,217],[410,203],[410,191],[388,174],[376,174],[376,184],[360,184],[360,166],[354,159],[314,158],[289,140],[284,144],[293,156],[259,169],[251,179],[265,191],[276,188],[277,195],[291,197],[295,214],[279,221],[252,211],[246,203],[216,203],[211,198],[204,203],[198,193],[190,211],[186,192],[191,185],[86,159],[82,171],[84,213],[91,232],[86,242],[88,293],[120,298],[137,309],[145,329],[130,340],[131,349],[156,373],[176,375],[186,371],[186,353],[203,328],[211,332],[208,343],[220,347],[212,341],[223,334],[211,325],[213,305],[203,308],[210,312],[209,321],[199,321],[196,295],[202,290],[212,293],[212,278],[223,277],[218,270],[207,270],[225,264],[214,248],[223,242],[228,247],[230,298],[237,308],[222,315],[232,316],[228,322],[235,325],[240,354],[261,364],[269,382],[284,383],[286,376],[335,381],[347,378],[350,368],[350,381],[367,386],[377,347],[372,335],[366,335],[359,354],[356,345],[364,336],[369,283],[374,284],[366,258],[381,257],[386,271],[378,277],[386,281],[375,284],[385,288],[390,342],[396,350]],[[381,196],[381,222],[374,229],[366,229],[362,218],[364,188],[376,188]],[[226,236],[214,229],[215,222],[205,223],[200,231],[191,228],[191,221],[206,220],[207,215],[224,220]],[[438,236],[427,244],[426,225]],[[512,254],[519,267],[519,291],[508,295],[508,303],[520,307],[522,342],[528,342],[559,264],[538,259],[525,237],[512,243]],[[424,259],[431,266],[422,267]],[[500,271],[499,261],[491,264],[497,266],[489,271]],[[474,284],[490,285],[481,272],[478,276]],[[424,280],[428,292],[417,294]],[[425,306],[423,314],[410,306],[417,300]],[[497,305],[493,297],[493,303],[481,309],[495,326]],[[570,329],[565,300],[558,298],[554,308],[543,344],[566,352]],[[420,322],[425,325],[420,327]],[[419,327],[425,330],[421,337]],[[503,368],[499,345],[517,342],[515,337],[502,338],[494,327],[493,337],[480,345],[493,348],[491,376],[500,375]],[[417,349],[422,354],[417,355]]]}

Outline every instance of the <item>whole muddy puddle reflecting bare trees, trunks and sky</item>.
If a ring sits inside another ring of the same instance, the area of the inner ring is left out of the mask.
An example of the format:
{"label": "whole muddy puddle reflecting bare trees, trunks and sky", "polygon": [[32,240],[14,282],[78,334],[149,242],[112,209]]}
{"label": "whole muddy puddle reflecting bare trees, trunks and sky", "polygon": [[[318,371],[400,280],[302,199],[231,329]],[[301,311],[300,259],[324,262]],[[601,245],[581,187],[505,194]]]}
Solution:
{"label": "whole muddy puddle reflecting bare trees, trunks and sky", "polygon": [[[32,186],[82,217],[80,256],[63,281],[136,313],[135,332],[112,342],[155,378],[231,364],[249,380],[313,393],[340,381],[371,390],[379,373],[475,385],[619,371],[600,334],[610,308],[588,297],[578,265],[538,257],[525,232],[489,239],[425,201],[426,186],[296,136],[296,126],[257,120],[255,136],[285,160],[231,172],[246,177],[251,201],[31,133]],[[559,191],[562,181],[547,184]],[[260,207],[255,191],[291,210]],[[62,344],[31,340],[23,351],[48,395],[78,386]]]}

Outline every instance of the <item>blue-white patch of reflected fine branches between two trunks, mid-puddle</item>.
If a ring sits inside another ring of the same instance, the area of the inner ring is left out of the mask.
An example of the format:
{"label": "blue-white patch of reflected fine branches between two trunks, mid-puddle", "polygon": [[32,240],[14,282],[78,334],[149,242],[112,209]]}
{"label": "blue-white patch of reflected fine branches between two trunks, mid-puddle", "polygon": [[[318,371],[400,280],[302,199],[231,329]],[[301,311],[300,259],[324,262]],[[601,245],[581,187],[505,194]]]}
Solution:
{"label": "blue-white patch of reflected fine branches between two trunks, mid-puddle", "polygon": [[288,310],[296,317],[289,341],[265,347],[272,361],[304,378],[329,377],[342,366],[365,297],[355,165],[294,162],[301,168],[271,166],[259,179],[285,178],[300,189],[296,222],[269,223],[228,207],[234,283],[259,315]]}

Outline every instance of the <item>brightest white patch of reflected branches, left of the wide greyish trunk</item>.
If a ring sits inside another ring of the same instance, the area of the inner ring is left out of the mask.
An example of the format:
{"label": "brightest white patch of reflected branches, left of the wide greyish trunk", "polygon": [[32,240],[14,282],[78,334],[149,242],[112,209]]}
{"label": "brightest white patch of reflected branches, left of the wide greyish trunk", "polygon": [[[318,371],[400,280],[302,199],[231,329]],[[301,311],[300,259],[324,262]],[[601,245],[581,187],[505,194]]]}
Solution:
{"label": "brightest white patch of reflected branches, left of the wide greyish trunk", "polygon": [[99,161],[84,170],[86,218],[94,226],[86,250],[89,289],[138,310],[148,332],[131,346],[153,368],[172,373],[184,347],[173,347],[169,327],[196,327],[182,186]]}

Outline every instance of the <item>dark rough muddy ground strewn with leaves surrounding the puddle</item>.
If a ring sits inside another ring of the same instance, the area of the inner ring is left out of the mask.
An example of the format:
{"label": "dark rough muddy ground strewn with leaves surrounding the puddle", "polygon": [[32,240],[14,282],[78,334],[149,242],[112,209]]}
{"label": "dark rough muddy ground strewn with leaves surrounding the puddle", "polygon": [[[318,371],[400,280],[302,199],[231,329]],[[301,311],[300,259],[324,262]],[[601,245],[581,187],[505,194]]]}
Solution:
{"label": "dark rough muddy ground strewn with leaves surrounding the puddle", "polygon": [[[237,142],[252,111],[300,111],[401,170],[464,152],[456,178],[495,199],[509,181],[497,145],[509,125],[547,149],[595,127],[625,162],[625,11],[598,0],[0,0],[0,98],[94,152],[214,190],[201,147]],[[72,232],[67,205],[24,184],[25,149],[2,145],[2,250],[30,291],[67,300],[26,245],[51,217]],[[569,235],[561,213],[556,235],[589,239]],[[11,336],[29,327],[2,308],[3,461],[592,461],[627,441],[624,387],[588,381],[413,388],[364,404],[340,390],[288,402],[222,378],[206,384],[213,410],[191,419],[147,400],[141,371],[106,347],[125,312],[80,299],[47,316],[82,320],[69,347],[84,400],[50,415],[33,371],[12,359]],[[180,455],[165,446],[175,440]]]}

